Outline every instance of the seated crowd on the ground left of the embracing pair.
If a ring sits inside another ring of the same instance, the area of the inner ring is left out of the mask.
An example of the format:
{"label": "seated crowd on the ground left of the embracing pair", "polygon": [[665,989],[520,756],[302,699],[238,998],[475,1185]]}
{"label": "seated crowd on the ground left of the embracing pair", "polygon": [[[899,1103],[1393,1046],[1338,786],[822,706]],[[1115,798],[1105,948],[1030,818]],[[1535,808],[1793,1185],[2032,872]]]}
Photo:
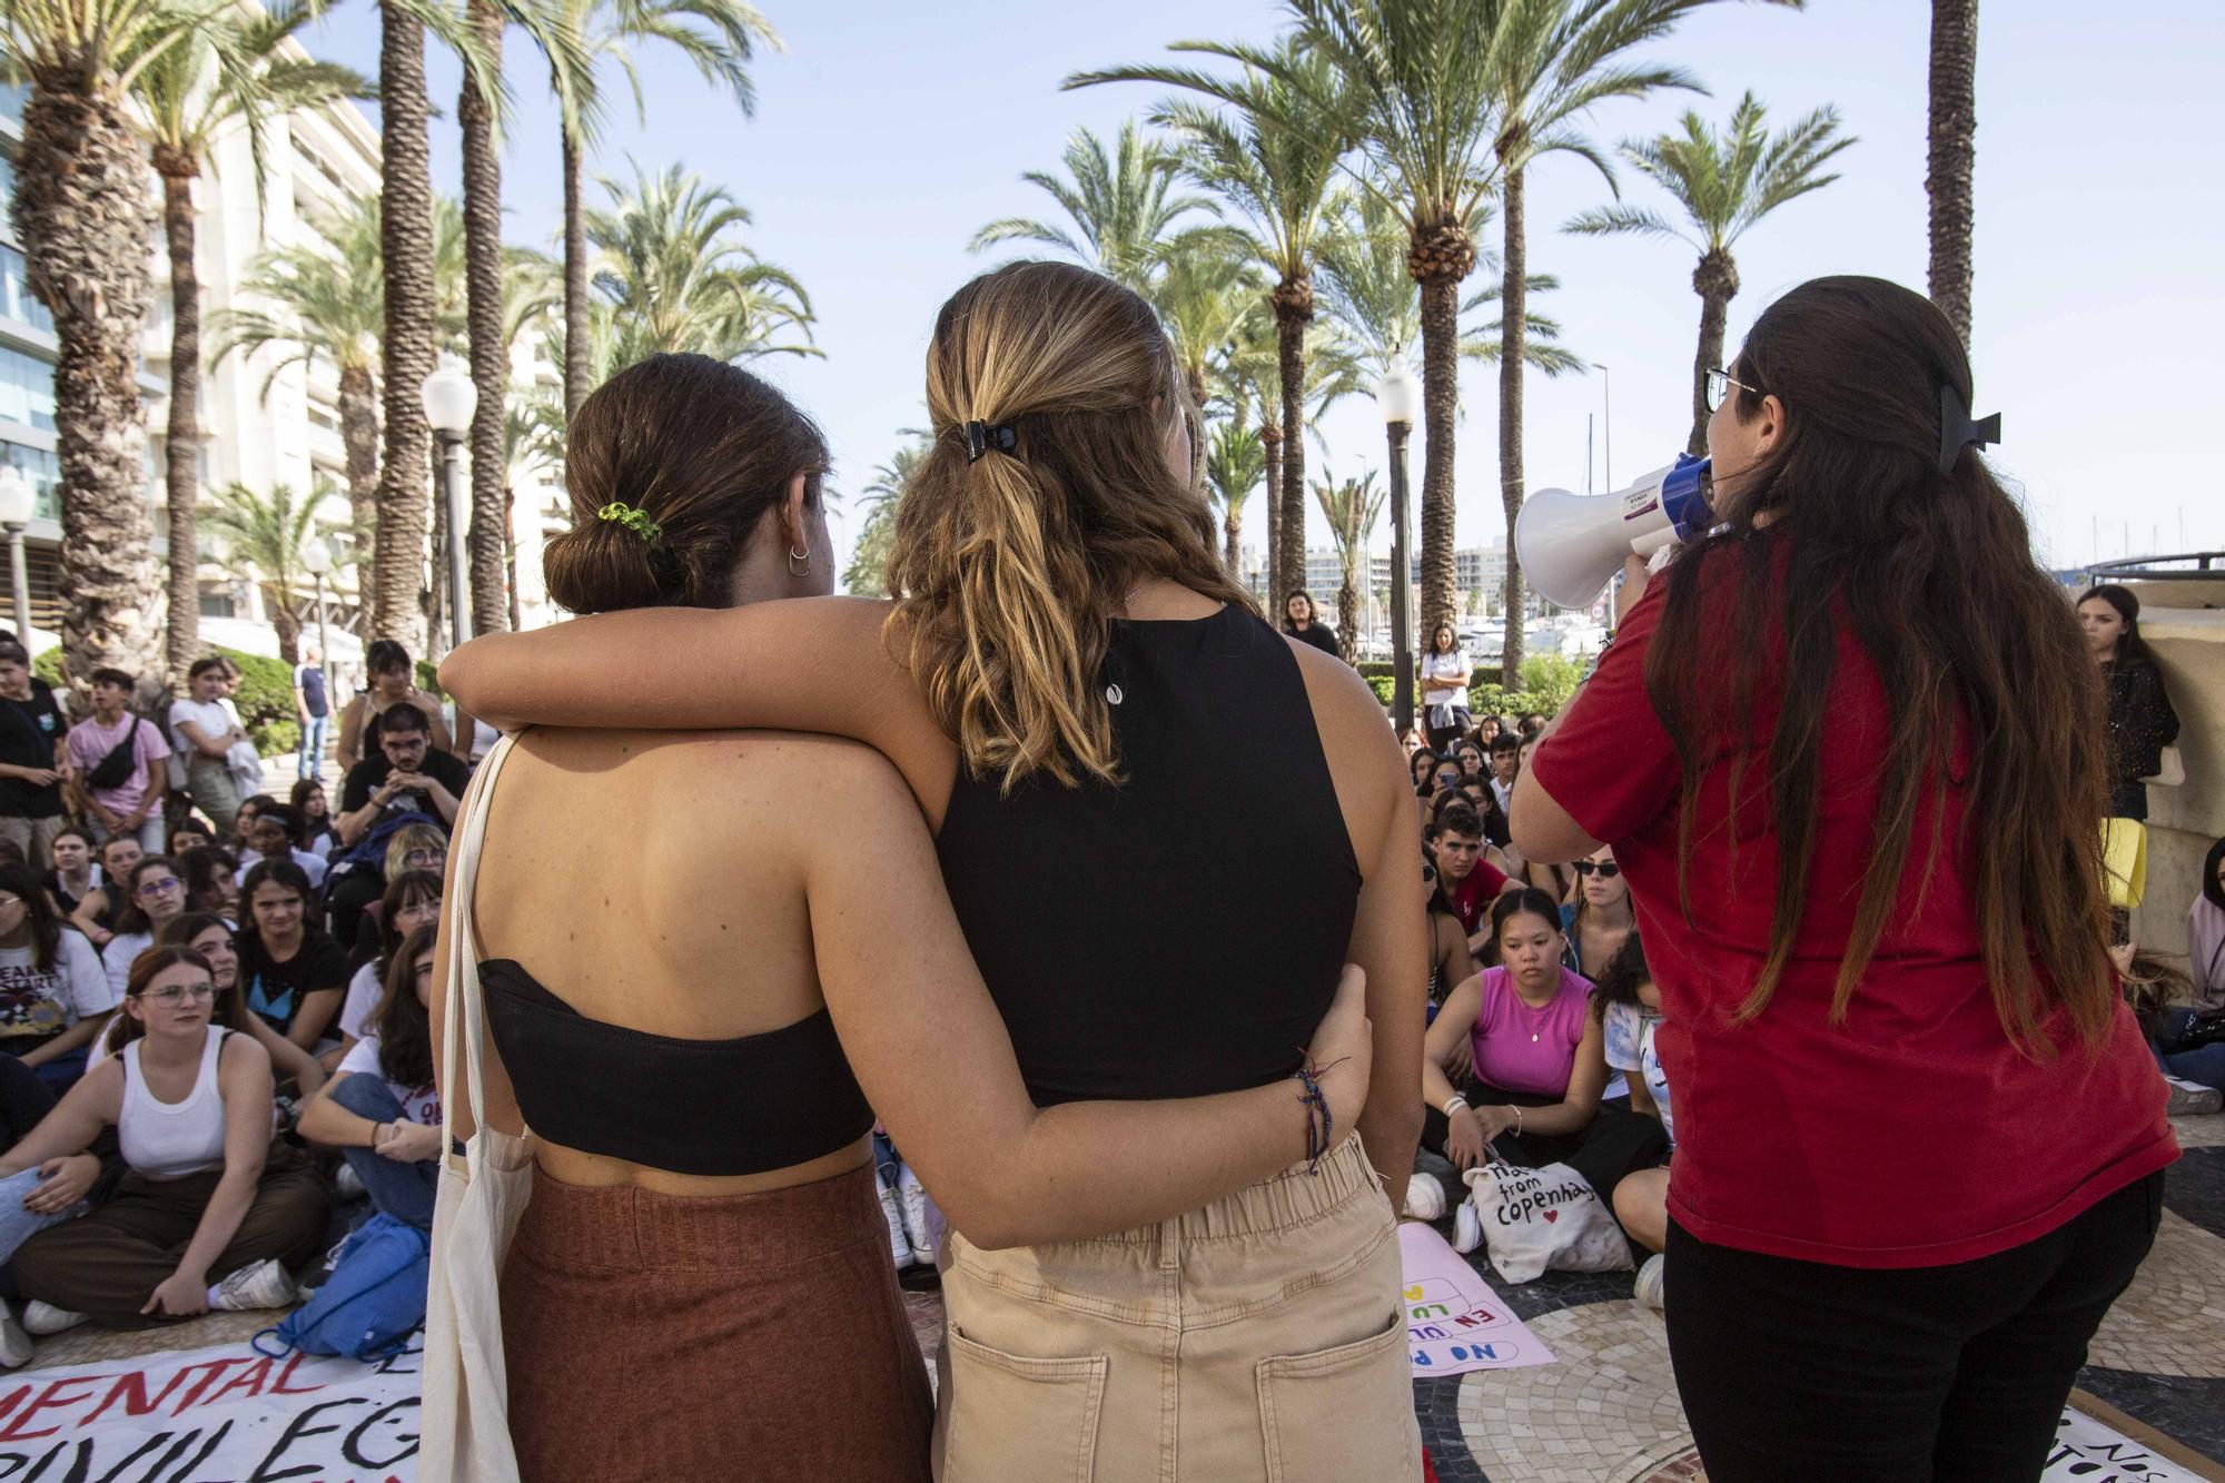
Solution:
{"label": "seated crowd on the ground left of the embracing pair", "polygon": [[[398,648],[374,659],[409,672]],[[7,1367],[31,1334],[87,1320],[287,1307],[369,1214],[432,1227],[425,1000],[469,764],[389,675],[349,708],[343,742],[365,755],[338,811],[314,775],[240,799],[205,766],[234,730],[229,679],[196,666],[178,701],[182,786],[165,786],[165,737],[134,757],[151,802],[71,806],[36,857],[0,837]],[[125,744],[129,693],[125,675],[96,686]],[[82,784],[58,768],[67,804]]]}

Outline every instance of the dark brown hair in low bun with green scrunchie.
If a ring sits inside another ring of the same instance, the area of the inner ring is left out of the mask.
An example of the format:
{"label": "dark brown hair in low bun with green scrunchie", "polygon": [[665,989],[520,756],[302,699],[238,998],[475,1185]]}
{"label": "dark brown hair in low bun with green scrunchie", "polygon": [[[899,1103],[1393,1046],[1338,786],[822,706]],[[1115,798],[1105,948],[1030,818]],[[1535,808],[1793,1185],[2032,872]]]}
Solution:
{"label": "dark brown hair in low bun with green scrunchie", "polygon": [[[812,419],[739,365],[659,354],[578,403],[565,441],[572,528],[541,559],[572,612],[730,608],[734,568],[805,474],[819,505],[828,445]],[[610,505],[639,512],[603,519]]]}

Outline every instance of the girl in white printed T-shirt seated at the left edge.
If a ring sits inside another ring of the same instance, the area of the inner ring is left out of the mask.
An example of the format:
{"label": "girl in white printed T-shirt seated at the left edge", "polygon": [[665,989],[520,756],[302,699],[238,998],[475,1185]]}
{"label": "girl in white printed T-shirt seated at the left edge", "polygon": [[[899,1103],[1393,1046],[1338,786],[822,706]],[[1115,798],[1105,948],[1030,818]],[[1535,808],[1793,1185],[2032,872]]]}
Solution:
{"label": "girl in white printed T-shirt seated at the left edge", "polygon": [[100,953],[62,931],[38,871],[0,866],[0,1049],[60,1096],[111,1009]]}

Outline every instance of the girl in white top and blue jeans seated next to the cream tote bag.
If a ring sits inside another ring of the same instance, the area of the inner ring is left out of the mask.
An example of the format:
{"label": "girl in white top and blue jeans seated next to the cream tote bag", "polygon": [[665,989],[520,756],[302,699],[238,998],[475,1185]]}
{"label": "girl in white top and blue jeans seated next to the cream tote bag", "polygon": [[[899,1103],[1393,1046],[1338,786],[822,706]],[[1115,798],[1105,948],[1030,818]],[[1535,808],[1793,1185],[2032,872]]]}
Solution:
{"label": "girl in white top and blue jeans seated next to the cream tote bag", "polygon": [[441,1093],[432,1082],[434,935],[421,922],[387,960],[378,1013],[340,1060],[332,1082],[300,1111],[300,1136],[329,1149],[363,1180],[372,1205],[432,1229],[432,1200],[441,1180]]}

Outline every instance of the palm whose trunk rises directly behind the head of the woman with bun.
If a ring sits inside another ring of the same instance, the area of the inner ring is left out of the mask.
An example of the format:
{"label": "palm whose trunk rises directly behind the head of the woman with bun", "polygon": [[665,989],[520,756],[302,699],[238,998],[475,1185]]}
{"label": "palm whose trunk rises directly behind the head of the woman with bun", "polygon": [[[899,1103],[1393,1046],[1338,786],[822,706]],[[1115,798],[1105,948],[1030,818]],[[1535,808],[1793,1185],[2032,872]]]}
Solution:
{"label": "palm whose trunk rises directly behind the head of the woman with bun", "polygon": [[645,116],[632,47],[663,42],[694,62],[705,82],[730,91],[748,118],[756,111],[750,62],[756,47],[781,51],[781,38],[741,0],[561,0],[561,7],[552,36],[565,38],[567,47],[543,42],[541,49],[563,114],[563,410],[570,421],[594,390],[585,169],[603,122],[599,62],[619,65],[632,87],[634,111]]}

